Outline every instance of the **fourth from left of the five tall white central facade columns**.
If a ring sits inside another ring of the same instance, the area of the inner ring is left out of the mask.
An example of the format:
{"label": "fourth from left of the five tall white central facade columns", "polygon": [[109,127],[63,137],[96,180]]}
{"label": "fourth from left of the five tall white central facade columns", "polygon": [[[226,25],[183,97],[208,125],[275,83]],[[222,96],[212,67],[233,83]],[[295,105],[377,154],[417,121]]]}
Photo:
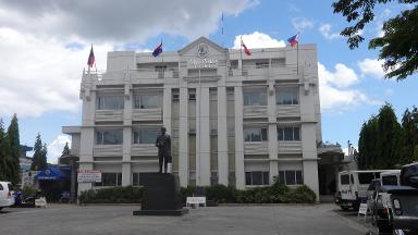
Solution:
{"label": "fourth from left of the five tall white central facade columns", "polygon": [[226,88],[218,87],[218,183],[228,185]]}

